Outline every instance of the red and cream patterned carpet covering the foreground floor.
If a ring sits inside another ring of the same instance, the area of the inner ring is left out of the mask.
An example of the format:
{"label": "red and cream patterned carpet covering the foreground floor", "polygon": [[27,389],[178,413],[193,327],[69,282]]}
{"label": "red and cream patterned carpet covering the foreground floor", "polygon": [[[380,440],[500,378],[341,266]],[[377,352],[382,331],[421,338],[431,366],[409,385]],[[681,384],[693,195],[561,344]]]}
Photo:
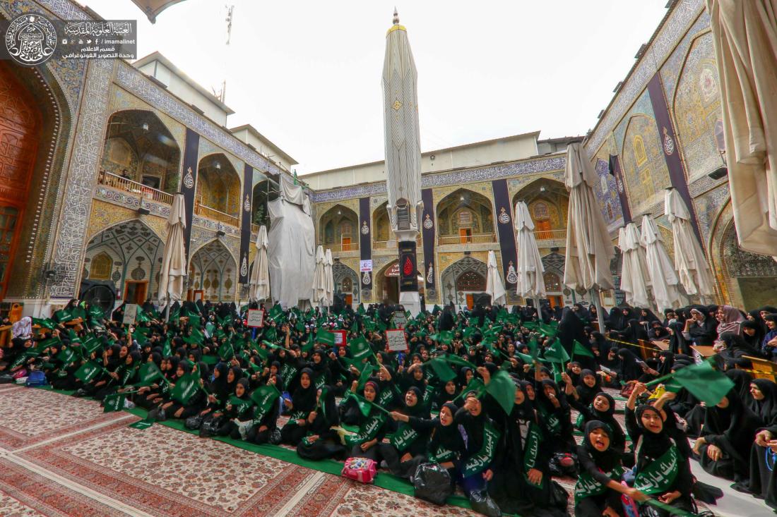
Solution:
{"label": "red and cream patterned carpet covering the foreground floor", "polygon": [[103,414],[95,401],[0,387],[0,515],[476,515]]}

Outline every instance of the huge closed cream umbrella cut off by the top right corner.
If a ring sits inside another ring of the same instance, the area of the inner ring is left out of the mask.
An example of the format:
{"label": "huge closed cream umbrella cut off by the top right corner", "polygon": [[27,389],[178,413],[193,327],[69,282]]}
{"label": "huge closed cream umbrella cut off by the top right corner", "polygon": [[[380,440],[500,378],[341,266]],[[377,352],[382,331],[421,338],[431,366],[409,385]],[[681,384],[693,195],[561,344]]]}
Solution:
{"label": "huge closed cream umbrella cut off by the top right corner", "polygon": [[777,0],[707,0],[734,224],[777,255]]}

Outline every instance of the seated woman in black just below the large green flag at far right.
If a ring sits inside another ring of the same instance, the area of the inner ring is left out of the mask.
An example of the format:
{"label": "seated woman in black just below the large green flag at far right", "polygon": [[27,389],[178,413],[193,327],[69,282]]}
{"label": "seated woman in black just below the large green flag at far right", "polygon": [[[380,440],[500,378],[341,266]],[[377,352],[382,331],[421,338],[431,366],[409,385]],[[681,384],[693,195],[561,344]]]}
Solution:
{"label": "seated woman in black just below the large green flag at far right", "polygon": [[702,435],[693,447],[702,468],[725,479],[747,478],[750,466],[744,451],[750,449],[758,424],[758,417],[732,388],[718,404],[707,408]]}

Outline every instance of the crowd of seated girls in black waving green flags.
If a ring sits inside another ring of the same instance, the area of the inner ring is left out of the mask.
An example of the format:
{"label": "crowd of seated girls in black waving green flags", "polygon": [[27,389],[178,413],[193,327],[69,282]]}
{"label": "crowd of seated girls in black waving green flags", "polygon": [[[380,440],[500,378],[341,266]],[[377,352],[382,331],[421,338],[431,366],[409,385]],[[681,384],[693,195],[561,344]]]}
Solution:
{"label": "crowd of seated girls in black waving green flags", "polygon": [[[573,497],[575,515],[614,517],[626,515],[623,495],[693,511],[695,498],[715,497],[695,481],[691,460],[777,508],[769,463],[772,447],[777,451],[777,388],[771,380],[752,379],[753,366],[744,357],[772,359],[777,349],[772,307],[744,314],[727,306],[694,306],[666,311],[663,319],[650,310],[616,307],[599,332],[591,327],[596,314],[581,305],[555,315],[515,307],[510,318],[499,307],[456,312],[446,306],[409,322],[406,353],[386,352],[383,333],[370,330],[375,322],[387,323],[397,307],[371,306],[359,313],[349,308],[328,317],[287,311],[278,318],[283,322],[268,320],[258,335],[234,305],[186,308],[200,314],[199,328],[186,317],[147,321],[138,324],[145,328],[142,344],[118,323],[120,310],[104,321],[104,331],[83,325],[75,341],[61,324],[38,338],[19,334],[3,364],[12,364],[36,339],[54,337],[55,344],[23,366],[44,370],[57,389],[98,400],[127,391],[155,420],[176,418],[190,429],[207,429],[204,435],[291,446],[308,460],[368,457],[406,479],[422,463],[439,463],[473,505],[486,499],[507,513],[567,515]],[[530,342],[541,351],[552,344],[547,333],[536,332],[541,318],[557,321],[556,337],[574,360],[530,360]],[[529,321],[533,325],[525,325]],[[206,338],[191,338],[208,325]],[[364,336],[374,359],[359,363],[348,347],[320,342],[309,347],[322,327],[343,329],[348,340]],[[484,340],[490,329],[493,334]],[[450,331],[449,337],[441,338],[441,331]],[[64,362],[63,349],[78,349],[89,335],[99,337],[99,349]],[[643,359],[640,343],[661,339],[667,350]],[[225,342],[258,345],[223,353]],[[576,356],[577,345],[588,353]],[[716,366],[735,385],[714,407],[705,408],[685,389],[672,393],[646,386],[695,363],[692,345],[715,346]],[[444,382],[427,363],[443,355],[462,359],[449,363],[451,379]],[[75,373],[86,359],[103,369],[84,383]],[[163,379],[138,386],[138,367],[149,362]],[[372,363],[371,375],[362,374]],[[510,411],[487,389],[473,388],[488,387],[500,372],[514,384]],[[176,380],[192,375],[201,389],[185,402],[176,399]],[[277,388],[277,397],[260,408],[251,394],[267,386]],[[623,387],[629,387],[625,429],[615,418],[612,395],[613,388]],[[695,439],[693,447],[689,438]],[[657,460],[668,461],[673,475],[649,486],[644,480]],[[552,479],[558,476],[578,477],[574,494]],[[669,515],[648,505],[640,511]]]}

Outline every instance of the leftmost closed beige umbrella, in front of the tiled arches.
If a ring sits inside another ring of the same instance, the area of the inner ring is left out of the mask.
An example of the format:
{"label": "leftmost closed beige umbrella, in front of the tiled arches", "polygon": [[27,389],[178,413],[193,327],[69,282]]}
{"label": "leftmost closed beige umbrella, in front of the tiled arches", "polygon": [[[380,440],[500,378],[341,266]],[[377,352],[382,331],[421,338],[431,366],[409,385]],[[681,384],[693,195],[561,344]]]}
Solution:
{"label": "leftmost closed beige umbrella, in front of the tiled arches", "polygon": [[159,305],[166,305],[166,317],[172,302],[183,294],[183,277],[186,276],[186,247],[183,245],[183,229],[186,227],[186,206],[183,194],[172,198],[170,217],[167,219],[165,252],[162,254],[162,270],[159,272]]}

